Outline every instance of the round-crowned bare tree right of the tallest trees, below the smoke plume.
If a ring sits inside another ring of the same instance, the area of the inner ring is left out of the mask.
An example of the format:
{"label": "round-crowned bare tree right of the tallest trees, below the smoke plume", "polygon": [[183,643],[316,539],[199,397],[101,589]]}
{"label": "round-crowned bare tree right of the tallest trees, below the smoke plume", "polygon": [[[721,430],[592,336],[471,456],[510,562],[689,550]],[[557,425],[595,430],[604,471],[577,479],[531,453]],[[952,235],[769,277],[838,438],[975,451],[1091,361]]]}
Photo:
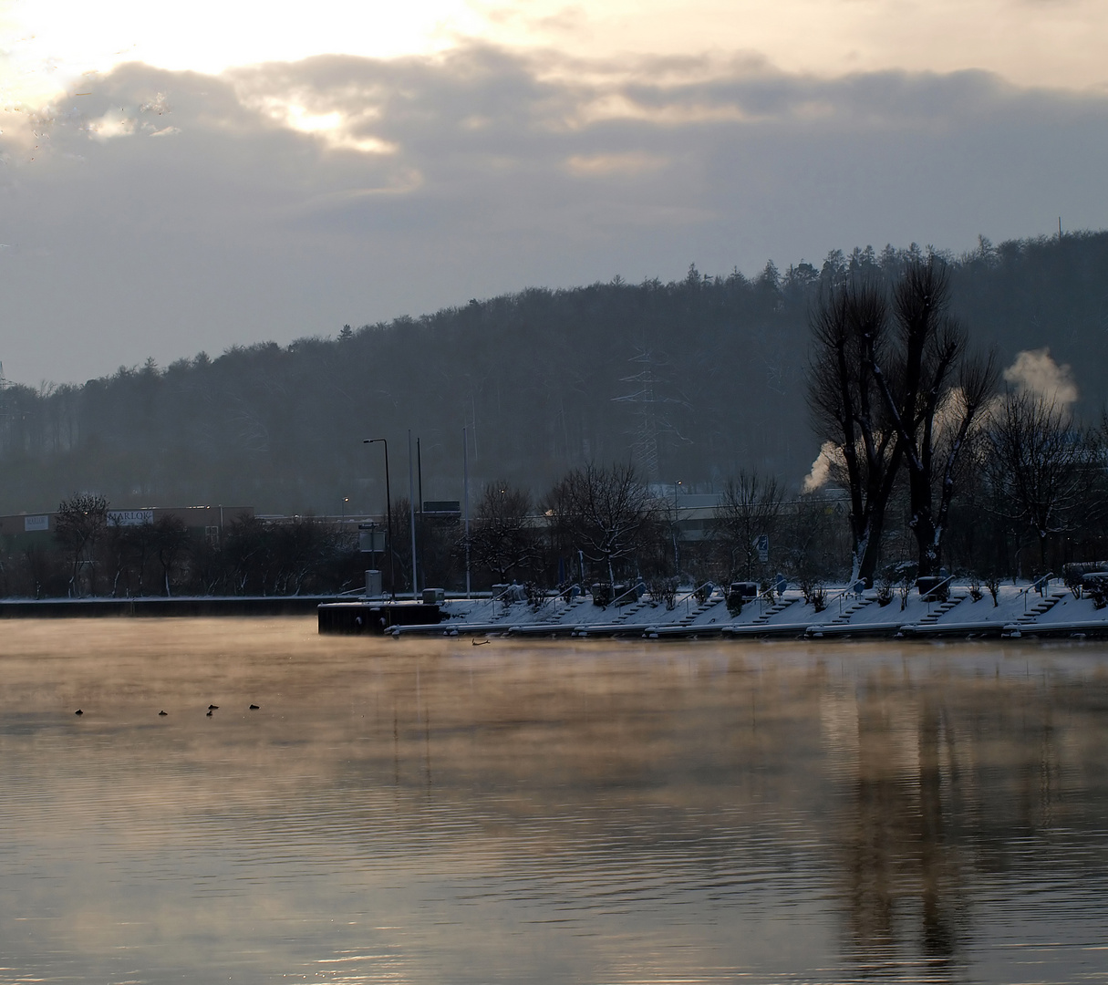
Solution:
{"label": "round-crowned bare tree right of the tallest trees, below the smoke plume", "polygon": [[1088,519],[1099,441],[1065,407],[1030,393],[1007,394],[987,434],[994,509],[1035,534],[1045,570],[1047,538]]}

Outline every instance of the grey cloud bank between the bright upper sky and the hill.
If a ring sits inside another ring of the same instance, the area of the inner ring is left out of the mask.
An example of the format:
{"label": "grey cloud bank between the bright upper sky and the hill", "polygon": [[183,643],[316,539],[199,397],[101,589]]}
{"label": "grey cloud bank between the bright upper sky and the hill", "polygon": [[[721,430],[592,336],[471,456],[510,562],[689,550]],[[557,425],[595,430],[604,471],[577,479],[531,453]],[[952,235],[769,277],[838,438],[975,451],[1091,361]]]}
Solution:
{"label": "grey cloud bank between the bright upper sky and the hill", "polygon": [[16,379],[530,285],[679,278],[694,260],[968,247],[1058,211],[1108,226],[1108,98],[981,72],[822,79],[749,57],[474,45],[220,75],[136,63],[80,91],[0,125]]}

